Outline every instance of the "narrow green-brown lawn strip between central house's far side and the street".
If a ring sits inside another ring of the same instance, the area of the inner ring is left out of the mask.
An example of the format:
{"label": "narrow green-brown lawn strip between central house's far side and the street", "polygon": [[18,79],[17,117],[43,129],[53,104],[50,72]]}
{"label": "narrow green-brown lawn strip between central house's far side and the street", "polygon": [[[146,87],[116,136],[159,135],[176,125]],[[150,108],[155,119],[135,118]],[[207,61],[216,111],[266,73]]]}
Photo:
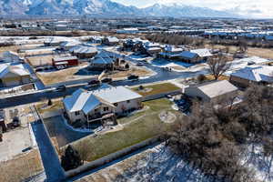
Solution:
{"label": "narrow green-brown lawn strip between central house's far side and the street", "polygon": [[137,87],[133,87],[133,90],[136,91],[141,96],[151,96],[151,95],[157,95],[161,93],[176,91],[180,89],[179,87],[171,83],[144,86],[144,88],[145,88],[144,91],[142,91],[142,90],[139,90],[139,86],[137,86]]}

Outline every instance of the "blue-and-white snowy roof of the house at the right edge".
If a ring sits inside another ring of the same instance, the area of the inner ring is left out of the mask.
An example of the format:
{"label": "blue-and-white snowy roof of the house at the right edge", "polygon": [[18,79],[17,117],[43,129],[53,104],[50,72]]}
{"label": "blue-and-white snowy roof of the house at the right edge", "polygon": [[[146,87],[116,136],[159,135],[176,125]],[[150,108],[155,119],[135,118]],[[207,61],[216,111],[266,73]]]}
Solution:
{"label": "blue-and-white snowy roof of the house at the right edge", "polygon": [[247,66],[231,74],[250,81],[272,82],[273,83],[273,68],[270,66]]}

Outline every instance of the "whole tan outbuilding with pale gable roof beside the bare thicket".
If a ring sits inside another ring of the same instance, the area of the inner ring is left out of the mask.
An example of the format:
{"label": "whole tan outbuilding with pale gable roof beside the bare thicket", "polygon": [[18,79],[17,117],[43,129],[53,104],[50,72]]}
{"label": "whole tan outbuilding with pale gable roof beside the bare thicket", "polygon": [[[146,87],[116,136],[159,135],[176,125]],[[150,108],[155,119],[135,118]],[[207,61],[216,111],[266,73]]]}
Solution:
{"label": "whole tan outbuilding with pale gable roof beside the bare thicket", "polygon": [[238,87],[233,86],[227,80],[213,81],[197,86],[187,86],[184,94],[198,98],[204,102],[215,102],[222,98],[234,98],[238,95]]}

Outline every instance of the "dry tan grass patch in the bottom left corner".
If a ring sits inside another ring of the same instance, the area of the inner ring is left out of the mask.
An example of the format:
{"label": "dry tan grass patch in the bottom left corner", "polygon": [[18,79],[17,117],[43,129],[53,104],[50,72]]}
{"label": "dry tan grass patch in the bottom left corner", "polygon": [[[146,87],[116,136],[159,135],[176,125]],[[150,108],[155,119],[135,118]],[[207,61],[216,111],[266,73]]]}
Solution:
{"label": "dry tan grass patch in the bottom left corner", "polygon": [[44,170],[37,149],[0,163],[0,181],[20,182]]}

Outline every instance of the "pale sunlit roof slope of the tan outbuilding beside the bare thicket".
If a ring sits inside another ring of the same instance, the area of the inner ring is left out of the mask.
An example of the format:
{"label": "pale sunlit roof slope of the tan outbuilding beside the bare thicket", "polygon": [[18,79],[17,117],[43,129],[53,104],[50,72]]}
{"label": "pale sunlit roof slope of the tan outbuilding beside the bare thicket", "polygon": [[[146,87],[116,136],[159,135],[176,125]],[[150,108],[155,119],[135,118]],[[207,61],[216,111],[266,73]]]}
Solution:
{"label": "pale sunlit roof slope of the tan outbuilding beside the bare thicket", "polygon": [[227,80],[206,83],[205,85],[197,86],[197,88],[210,98],[238,90],[236,86],[233,86]]}

